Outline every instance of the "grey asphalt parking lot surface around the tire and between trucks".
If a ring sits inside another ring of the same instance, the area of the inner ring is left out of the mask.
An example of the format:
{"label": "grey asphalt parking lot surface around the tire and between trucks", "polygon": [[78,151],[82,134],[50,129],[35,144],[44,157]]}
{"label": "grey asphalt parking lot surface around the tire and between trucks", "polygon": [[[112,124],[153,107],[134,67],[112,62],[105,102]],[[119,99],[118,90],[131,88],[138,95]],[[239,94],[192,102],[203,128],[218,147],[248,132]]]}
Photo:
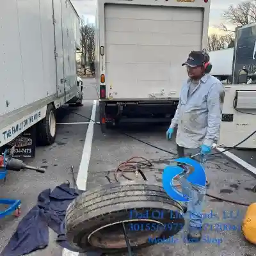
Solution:
{"label": "grey asphalt parking lot surface around the tire and between trucks", "polygon": [[[30,165],[44,166],[44,174],[30,170],[9,172],[6,182],[1,184],[0,195],[2,198],[17,198],[22,200],[22,215],[20,218],[8,216],[0,220],[0,252],[8,243],[19,221],[26,212],[36,204],[37,196],[47,188],[55,188],[61,183],[70,180],[72,173],[70,166],[74,166],[77,184],[80,188],[92,189],[95,186],[108,184],[113,180],[113,170],[116,166],[130,157],[142,156],[147,159],[173,158],[166,152],[150,147],[141,141],[120,133],[127,132],[142,141],[146,141],[159,148],[176,153],[174,141],[166,141],[166,125],[130,125],[118,130],[102,134],[99,122],[99,105],[96,101],[97,90],[95,79],[84,79],[84,106],[68,109],[59,109],[57,113],[58,125],[56,141],[49,147],[36,148],[36,156]],[[77,115],[78,113],[79,115]],[[96,123],[86,119],[92,118]],[[241,158],[248,157],[244,152]],[[249,157],[250,158],[250,157]],[[255,157],[256,159],[256,157]],[[252,159],[251,159],[252,160]],[[250,173],[245,172],[236,162],[230,161],[225,156],[218,154],[211,157],[206,164],[207,179],[211,182],[207,193],[215,196],[247,202],[255,202],[252,192],[255,179]],[[161,182],[161,173],[164,164],[154,163],[154,168],[147,170],[147,177],[152,182]],[[109,179],[106,178],[108,173]],[[204,212],[213,212],[214,218],[205,218],[208,228],[204,230],[204,239],[198,244],[186,244],[186,228],[175,236],[176,242],[156,244],[138,252],[136,255],[176,255],[176,256],[253,256],[256,248],[248,243],[241,234],[241,221],[244,218],[246,207],[217,200],[210,196],[205,197]],[[233,217],[224,218],[226,214],[233,213]],[[188,218],[188,216],[186,216]],[[211,230],[210,227],[232,225],[233,230]],[[56,234],[50,230],[49,246],[44,250],[31,253],[31,255],[79,255],[63,250],[57,246]],[[79,256],[86,255],[80,253]]]}

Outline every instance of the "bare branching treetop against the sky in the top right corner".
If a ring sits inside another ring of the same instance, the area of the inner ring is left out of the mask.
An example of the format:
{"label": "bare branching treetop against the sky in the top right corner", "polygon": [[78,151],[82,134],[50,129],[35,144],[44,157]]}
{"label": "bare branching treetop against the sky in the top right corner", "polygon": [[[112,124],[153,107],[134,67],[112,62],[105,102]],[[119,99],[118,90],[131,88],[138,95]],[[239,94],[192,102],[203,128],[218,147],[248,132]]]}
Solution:
{"label": "bare branching treetop against the sky in the top right corner", "polygon": [[[244,26],[256,22],[256,1],[245,1],[237,6],[230,5],[223,13],[223,19],[234,26]],[[227,28],[225,23],[220,25],[220,29],[227,32],[234,32]]]}

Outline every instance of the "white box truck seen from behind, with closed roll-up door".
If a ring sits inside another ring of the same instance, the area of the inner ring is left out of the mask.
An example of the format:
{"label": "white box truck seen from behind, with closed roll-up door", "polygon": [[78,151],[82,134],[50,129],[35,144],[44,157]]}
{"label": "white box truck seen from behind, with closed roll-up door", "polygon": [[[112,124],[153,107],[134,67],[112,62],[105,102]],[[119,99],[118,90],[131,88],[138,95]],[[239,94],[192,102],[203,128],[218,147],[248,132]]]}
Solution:
{"label": "white box truck seen from behind, with closed roll-up door", "polygon": [[95,68],[102,131],[170,122],[187,79],[182,63],[207,48],[208,0],[98,0]]}

